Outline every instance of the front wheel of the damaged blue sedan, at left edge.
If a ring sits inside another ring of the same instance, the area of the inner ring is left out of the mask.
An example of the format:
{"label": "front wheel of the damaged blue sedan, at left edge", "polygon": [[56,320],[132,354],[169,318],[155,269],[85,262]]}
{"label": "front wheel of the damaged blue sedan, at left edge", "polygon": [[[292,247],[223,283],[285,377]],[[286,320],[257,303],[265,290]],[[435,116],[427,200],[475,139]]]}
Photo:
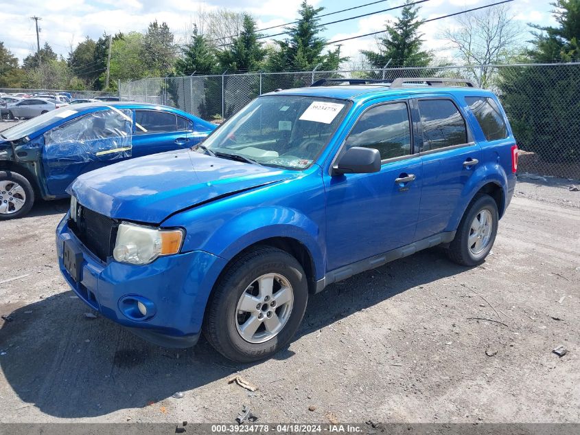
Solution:
{"label": "front wheel of the damaged blue sedan, at left edge", "polygon": [[30,181],[18,172],[0,170],[0,221],[27,214],[34,204]]}

